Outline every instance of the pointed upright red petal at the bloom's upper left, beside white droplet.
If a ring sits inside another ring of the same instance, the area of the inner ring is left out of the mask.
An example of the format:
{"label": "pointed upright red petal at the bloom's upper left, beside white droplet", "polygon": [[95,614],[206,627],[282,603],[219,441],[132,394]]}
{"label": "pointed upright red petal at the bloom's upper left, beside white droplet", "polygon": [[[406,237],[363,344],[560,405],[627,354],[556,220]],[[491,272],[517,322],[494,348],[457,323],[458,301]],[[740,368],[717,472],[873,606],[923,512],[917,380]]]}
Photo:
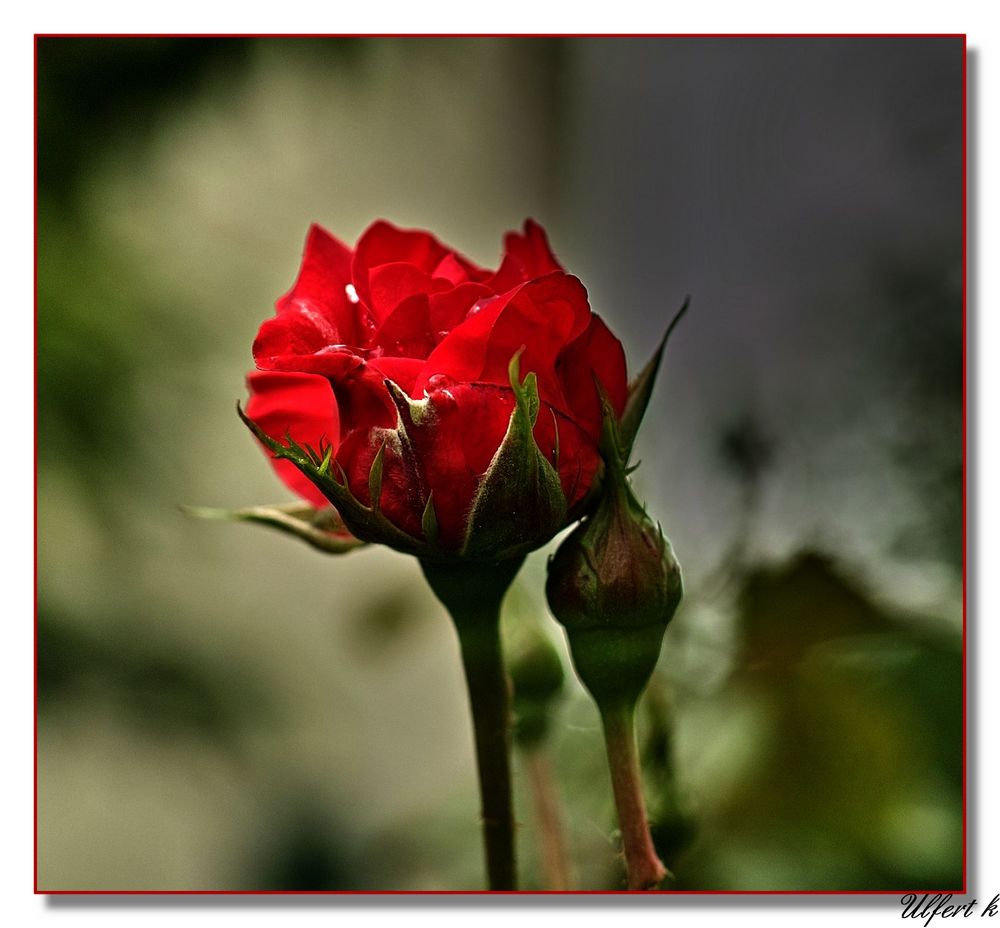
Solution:
{"label": "pointed upright red petal at the bloom's upper left, beside white droplet", "polygon": [[325,320],[333,331],[331,343],[356,344],[360,328],[357,306],[346,289],[350,275],[350,249],[322,227],[310,226],[299,276],[276,304],[279,315],[303,313]]}

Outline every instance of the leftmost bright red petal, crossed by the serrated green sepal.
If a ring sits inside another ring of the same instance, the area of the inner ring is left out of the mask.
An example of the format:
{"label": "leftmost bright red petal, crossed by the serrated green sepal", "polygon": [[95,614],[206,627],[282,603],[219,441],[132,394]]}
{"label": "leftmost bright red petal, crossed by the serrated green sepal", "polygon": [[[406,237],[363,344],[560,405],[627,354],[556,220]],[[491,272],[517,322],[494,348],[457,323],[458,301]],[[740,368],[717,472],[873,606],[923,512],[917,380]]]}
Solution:
{"label": "leftmost bright red petal, crossed by the serrated green sepal", "polygon": [[[317,452],[328,443],[337,444],[340,437],[337,402],[325,377],[253,371],[247,376],[247,387],[250,390],[247,416],[275,441],[284,442],[285,436],[290,435],[300,445],[309,445]],[[314,506],[330,504],[291,461],[271,458],[271,464],[294,493]]]}

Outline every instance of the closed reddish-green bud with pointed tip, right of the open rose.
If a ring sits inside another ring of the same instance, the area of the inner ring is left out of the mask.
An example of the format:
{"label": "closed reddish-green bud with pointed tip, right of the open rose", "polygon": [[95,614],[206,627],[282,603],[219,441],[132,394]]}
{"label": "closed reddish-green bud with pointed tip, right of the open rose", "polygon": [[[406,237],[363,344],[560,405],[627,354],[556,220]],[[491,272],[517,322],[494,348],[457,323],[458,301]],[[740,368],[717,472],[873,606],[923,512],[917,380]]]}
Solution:
{"label": "closed reddish-green bud with pointed tip, right of the open rose", "polygon": [[681,569],[629,487],[613,417],[605,429],[600,499],[549,561],[545,593],[591,695],[633,703],[680,602]]}

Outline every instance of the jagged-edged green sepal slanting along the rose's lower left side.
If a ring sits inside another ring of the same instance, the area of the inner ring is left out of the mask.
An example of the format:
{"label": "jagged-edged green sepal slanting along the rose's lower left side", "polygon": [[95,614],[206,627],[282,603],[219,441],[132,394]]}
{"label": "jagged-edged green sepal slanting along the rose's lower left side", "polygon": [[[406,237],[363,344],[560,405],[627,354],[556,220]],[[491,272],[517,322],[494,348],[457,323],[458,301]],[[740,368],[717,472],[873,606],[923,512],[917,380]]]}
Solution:
{"label": "jagged-edged green sepal slanting along the rose's lower left side", "polygon": [[[239,403],[236,412],[243,424],[256,436],[257,440],[276,458],[291,461],[308,477],[316,488],[336,507],[344,524],[353,535],[362,541],[389,545],[407,554],[419,553],[424,547],[420,541],[393,525],[378,509],[364,505],[347,487],[347,477],[342,468],[332,461],[330,448],[320,448],[319,453],[308,446],[303,448],[291,436],[285,436],[285,444],[275,441],[264,432],[244,412]],[[331,463],[332,461],[332,463]],[[333,470],[339,473],[338,480]],[[370,476],[370,475],[369,475]]]}

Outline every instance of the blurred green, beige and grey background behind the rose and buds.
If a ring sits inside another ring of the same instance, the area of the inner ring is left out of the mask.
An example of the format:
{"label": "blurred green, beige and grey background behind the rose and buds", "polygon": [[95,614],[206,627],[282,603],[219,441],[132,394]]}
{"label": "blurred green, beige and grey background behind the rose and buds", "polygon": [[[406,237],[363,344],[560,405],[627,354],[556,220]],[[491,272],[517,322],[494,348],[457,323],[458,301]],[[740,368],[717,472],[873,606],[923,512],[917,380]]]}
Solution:
{"label": "blurred green, beige and grey background behind the rose and buds", "polygon": [[[37,60],[41,889],[482,887],[457,644],[416,562],[177,507],[290,500],[234,404],[310,222],[495,265],[526,216],[633,372],[692,297],[634,477],[685,569],[640,719],[668,885],[960,887],[961,39]],[[565,661],[544,570],[508,618]],[[569,885],[620,888],[570,672],[546,711],[522,883],[552,885],[547,770]]]}

